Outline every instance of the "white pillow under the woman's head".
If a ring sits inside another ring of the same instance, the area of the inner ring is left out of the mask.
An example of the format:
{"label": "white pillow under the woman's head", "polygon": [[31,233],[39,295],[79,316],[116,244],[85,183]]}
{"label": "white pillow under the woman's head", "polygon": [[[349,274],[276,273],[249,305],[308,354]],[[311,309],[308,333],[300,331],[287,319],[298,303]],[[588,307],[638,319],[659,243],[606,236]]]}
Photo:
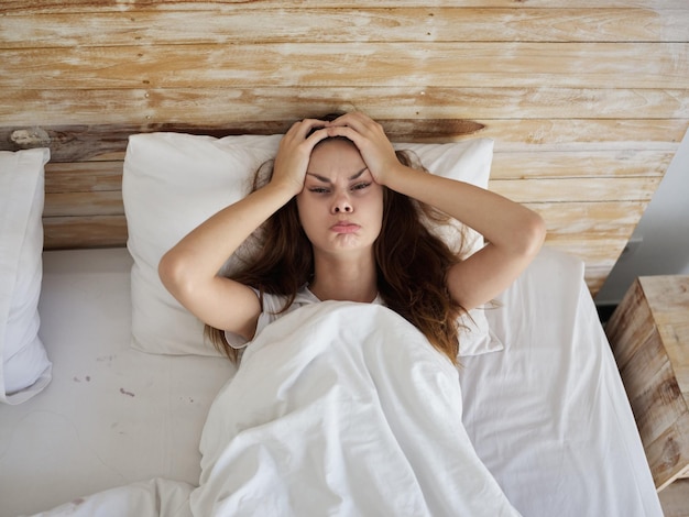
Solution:
{"label": "white pillow under the woman's head", "polygon": [[[253,175],[273,158],[282,135],[216,139],[183,133],[134,134],[124,157],[122,197],[134,260],[131,274],[132,346],[150,353],[217,355],[204,342],[204,326],[163,287],[157,264],[190,230],[250,193]],[[409,148],[435,174],[488,187],[493,141],[450,144],[397,144]],[[448,237],[452,239],[452,237]],[[482,245],[473,242],[473,250]],[[226,265],[238,266],[237,257]],[[228,310],[231,310],[228,308]],[[502,350],[483,310],[462,333],[461,355]]]}

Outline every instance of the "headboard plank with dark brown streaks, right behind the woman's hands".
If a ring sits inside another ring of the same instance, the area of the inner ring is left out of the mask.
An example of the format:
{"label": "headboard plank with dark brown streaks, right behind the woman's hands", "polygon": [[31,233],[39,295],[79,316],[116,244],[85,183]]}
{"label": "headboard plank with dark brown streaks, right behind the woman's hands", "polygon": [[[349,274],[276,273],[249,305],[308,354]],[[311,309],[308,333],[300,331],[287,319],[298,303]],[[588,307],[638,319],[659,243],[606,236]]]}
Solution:
{"label": "headboard plank with dark brown streaks, right behind the woman's hands", "polygon": [[[175,131],[217,138],[275,134],[297,120],[247,121],[234,125],[77,124],[0,127],[0,151],[46,146],[53,163],[123,160],[130,134]],[[527,177],[540,166],[549,176],[663,176],[689,120],[522,120],[378,119],[393,142],[453,142],[493,139],[493,177]],[[634,141],[641,132],[645,141]],[[538,175],[538,173],[535,173]]]}

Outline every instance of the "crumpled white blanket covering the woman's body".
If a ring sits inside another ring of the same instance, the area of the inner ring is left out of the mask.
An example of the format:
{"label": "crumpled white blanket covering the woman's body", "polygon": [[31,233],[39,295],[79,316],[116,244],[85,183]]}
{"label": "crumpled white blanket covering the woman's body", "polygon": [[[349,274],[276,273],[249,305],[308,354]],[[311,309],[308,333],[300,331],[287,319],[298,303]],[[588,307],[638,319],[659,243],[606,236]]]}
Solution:
{"label": "crumpled white blanket covering the woman's body", "polygon": [[518,515],[461,416],[457,370],[411,323],[315,304],[265,328],[216,397],[199,487],[156,480],[44,515]]}

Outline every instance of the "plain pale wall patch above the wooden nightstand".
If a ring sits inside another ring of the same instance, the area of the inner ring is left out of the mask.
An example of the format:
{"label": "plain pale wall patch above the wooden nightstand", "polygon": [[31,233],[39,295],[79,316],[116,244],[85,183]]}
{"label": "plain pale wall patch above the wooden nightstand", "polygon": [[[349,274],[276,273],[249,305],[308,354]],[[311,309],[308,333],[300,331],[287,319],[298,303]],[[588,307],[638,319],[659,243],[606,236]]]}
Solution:
{"label": "plain pale wall patch above the wooden nightstand", "polygon": [[674,274],[689,275],[689,131],[595,302],[619,304],[637,276]]}

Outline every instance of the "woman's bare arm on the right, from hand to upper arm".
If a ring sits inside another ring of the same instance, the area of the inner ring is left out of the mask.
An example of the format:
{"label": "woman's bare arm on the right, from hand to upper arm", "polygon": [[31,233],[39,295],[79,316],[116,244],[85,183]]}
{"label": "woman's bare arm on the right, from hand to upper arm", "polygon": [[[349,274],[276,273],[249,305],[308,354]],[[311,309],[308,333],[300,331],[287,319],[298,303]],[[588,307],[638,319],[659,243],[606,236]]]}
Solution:
{"label": "woman's bare arm on the right, from hand to upper arm", "polygon": [[361,113],[331,124],[330,134],[354,141],[378,183],[446,212],[488,241],[447,275],[452,297],[466,309],[497,296],[540,250],[546,232],[536,212],[480,187],[404,166],[382,127]]}

